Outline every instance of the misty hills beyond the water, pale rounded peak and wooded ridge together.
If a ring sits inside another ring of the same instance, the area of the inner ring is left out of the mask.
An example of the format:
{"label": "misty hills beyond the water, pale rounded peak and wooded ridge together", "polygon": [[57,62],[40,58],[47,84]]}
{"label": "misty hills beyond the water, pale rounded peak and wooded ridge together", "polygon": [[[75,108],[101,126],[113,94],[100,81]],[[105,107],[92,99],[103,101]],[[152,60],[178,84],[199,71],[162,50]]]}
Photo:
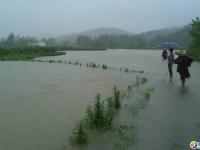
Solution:
{"label": "misty hills beyond the water, pale rounded peak and wooded ridge together", "polygon": [[172,27],[133,34],[118,28],[97,28],[73,33],[57,39],[68,46],[82,48],[157,48],[166,41],[175,42],[186,48],[190,42],[190,26]]}

